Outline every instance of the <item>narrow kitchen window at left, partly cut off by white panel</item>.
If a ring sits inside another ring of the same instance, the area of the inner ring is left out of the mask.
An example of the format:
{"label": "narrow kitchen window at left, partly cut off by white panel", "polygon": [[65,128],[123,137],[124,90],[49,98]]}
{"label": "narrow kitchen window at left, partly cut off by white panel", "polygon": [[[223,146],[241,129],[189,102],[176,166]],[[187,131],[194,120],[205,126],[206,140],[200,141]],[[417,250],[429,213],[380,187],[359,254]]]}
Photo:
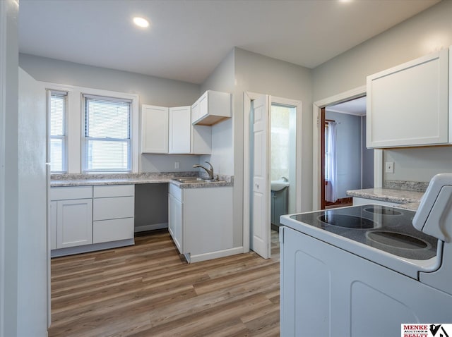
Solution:
{"label": "narrow kitchen window at left, partly cut off by white panel", "polygon": [[49,159],[52,163],[52,173],[67,172],[67,135],[66,135],[66,110],[67,92],[48,90],[49,97]]}

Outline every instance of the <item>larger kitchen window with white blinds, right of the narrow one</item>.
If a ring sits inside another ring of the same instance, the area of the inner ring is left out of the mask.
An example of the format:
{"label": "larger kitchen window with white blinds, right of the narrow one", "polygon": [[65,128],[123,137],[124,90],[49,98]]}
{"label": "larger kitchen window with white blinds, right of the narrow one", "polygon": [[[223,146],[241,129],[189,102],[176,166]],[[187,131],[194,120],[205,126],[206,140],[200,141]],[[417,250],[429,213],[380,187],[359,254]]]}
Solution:
{"label": "larger kitchen window with white blinds, right of the narrow one", "polygon": [[83,94],[83,172],[130,172],[131,99]]}

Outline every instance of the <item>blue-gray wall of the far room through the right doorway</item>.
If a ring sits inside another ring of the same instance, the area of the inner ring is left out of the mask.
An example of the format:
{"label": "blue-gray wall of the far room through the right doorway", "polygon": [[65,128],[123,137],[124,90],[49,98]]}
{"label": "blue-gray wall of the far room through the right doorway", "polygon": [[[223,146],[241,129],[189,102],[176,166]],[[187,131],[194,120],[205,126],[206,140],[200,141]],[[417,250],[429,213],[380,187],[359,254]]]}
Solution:
{"label": "blue-gray wall of the far room through the right doorway", "polygon": [[327,110],[326,119],[337,123],[338,198],[345,198],[347,190],[361,188],[361,117]]}

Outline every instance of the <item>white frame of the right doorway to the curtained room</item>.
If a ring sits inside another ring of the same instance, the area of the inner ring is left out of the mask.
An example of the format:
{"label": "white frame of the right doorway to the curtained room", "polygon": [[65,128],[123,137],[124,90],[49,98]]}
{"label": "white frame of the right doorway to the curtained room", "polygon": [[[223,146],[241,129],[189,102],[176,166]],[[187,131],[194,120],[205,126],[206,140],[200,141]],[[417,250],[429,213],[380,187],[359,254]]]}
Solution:
{"label": "white frame of the right doorway to the curtained room", "polygon": [[[358,97],[366,96],[367,87],[362,85],[340,94],[314,102],[312,108],[312,209],[321,207],[321,109],[326,106],[350,101]],[[383,150],[374,149],[374,188],[383,187]],[[324,188],[324,187],[323,187]]]}

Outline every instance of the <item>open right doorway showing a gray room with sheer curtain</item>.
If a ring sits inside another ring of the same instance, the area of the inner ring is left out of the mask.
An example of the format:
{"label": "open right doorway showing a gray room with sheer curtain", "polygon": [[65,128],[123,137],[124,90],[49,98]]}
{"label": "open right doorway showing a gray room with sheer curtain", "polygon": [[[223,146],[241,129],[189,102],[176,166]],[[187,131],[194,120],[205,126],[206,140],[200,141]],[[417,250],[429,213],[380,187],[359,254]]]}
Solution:
{"label": "open right doorway showing a gray room with sheer curtain", "polygon": [[347,190],[374,188],[374,150],[366,147],[366,97],[321,109],[321,209],[352,205]]}

